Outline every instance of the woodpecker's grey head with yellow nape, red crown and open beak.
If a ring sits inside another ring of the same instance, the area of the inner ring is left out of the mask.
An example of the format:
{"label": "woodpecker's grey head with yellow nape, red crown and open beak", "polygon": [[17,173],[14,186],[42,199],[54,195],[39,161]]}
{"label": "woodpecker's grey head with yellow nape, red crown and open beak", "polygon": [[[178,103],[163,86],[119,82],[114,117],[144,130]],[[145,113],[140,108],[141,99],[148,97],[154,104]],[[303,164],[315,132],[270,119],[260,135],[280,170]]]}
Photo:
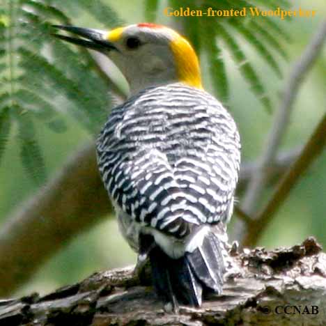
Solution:
{"label": "woodpecker's grey head with yellow nape, red crown and open beak", "polygon": [[182,82],[202,88],[199,61],[189,42],[166,26],[143,23],[111,31],[55,25],[81,38],[56,37],[102,52],[121,70],[131,93],[148,86]]}

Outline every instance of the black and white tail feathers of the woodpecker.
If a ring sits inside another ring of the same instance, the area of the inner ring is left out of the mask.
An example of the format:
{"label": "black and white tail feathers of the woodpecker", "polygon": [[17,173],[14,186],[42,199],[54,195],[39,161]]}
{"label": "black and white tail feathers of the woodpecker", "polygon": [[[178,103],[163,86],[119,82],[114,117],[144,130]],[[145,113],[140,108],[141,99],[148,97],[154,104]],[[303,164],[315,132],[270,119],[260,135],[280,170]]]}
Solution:
{"label": "black and white tail feathers of the woodpecker", "polygon": [[185,255],[177,259],[157,245],[149,253],[157,294],[173,306],[201,306],[203,291],[222,293],[222,241],[208,231],[198,232],[190,242],[189,251],[186,249]]}

